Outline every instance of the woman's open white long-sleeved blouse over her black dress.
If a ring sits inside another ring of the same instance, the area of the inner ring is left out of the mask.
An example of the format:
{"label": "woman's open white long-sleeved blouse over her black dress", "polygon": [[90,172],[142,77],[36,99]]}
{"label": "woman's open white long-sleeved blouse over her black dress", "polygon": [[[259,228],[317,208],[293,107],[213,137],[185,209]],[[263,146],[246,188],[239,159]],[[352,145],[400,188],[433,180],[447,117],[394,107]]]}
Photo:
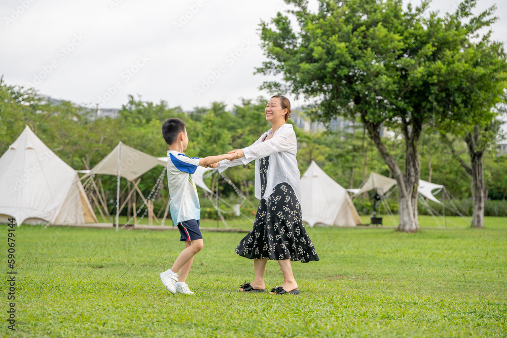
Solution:
{"label": "woman's open white long-sleeved blouse over her black dress", "polygon": [[[229,167],[240,164],[247,164],[252,160],[255,161],[255,197],[257,199],[268,199],[273,188],[280,183],[288,183],[296,193],[298,201],[301,201],[301,187],[298,161],[296,154],[298,152],[298,141],[296,133],[291,124],[283,124],[275,131],[273,138],[262,141],[263,138],[271,134],[271,129],[259,137],[255,143],[243,148],[244,157],[229,161],[220,161],[217,169],[223,172]],[[266,190],[264,196],[261,196],[261,173],[259,170],[259,159],[269,156],[268,172],[266,174]]]}

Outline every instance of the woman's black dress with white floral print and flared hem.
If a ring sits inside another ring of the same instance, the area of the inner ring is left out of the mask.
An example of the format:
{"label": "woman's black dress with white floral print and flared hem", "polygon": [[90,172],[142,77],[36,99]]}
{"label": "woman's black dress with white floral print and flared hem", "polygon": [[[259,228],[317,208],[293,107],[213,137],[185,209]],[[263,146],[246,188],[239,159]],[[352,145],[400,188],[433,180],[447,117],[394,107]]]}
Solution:
{"label": "woman's black dress with white floral print and flared hem", "polygon": [[[262,196],[268,166],[269,156],[259,163]],[[301,206],[291,185],[280,183],[267,201],[261,199],[253,229],[239,242],[236,253],[250,259],[319,260],[303,226]]]}

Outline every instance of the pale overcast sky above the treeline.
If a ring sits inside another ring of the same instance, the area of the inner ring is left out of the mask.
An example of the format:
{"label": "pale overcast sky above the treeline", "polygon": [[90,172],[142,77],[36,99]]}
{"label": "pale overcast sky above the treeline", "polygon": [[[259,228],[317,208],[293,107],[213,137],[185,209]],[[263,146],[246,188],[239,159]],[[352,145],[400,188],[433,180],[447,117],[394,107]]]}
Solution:
{"label": "pale overcast sky above the treeline", "polygon": [[[479,0],[477,12],[495,3],[493,38],[505,42],[507,1]],[[257,29],[283,8],[282,0],[3,0],[0,74],[87,106],[120,108],[132,94],[185,110],[230,107],[267,96],[258,89],[267,79],[253,75],[265,60]]]}

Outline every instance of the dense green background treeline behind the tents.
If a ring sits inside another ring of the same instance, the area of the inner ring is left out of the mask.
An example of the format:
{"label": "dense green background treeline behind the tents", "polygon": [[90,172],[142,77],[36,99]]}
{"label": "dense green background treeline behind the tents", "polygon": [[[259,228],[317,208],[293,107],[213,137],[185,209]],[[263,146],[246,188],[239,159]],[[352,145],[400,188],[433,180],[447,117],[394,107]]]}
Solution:
{"label": "dense green background treeline behind the tents", "polygon": [[[209,107],[195,107],[192,111],[184,112],[180,107],[169,107],[164,101],[153,103],[129,96],[116,119],[94,119],[94,111],[77,107],[70,102],[50,104],[38,98],[32,89],[9,86],[3,81],[0,83],[0,98],[1,154],[5,153],[25,125],[28,125],[63,161],[76,170],[96,165],[119,141],[153,156],[165,156],[168,147],[162,138],[161,126],[164,120],[171,117],[186,122],[190,139],[186,154],[191,157],[218,155],[245,147],[270,128],[264,116],[266,98],[243,99],[240,105],[232,108],[227,108],[221,102],[213,102]],[[293,110],[294,114],[304,115],[303,111]],[[347,131],[309,133],[295,129],[301,174],[313,160],[346,188],[358,187],[371,171],[392,176],[358,122]],[[425,130],[420,143],[421,179],[446,185],[456,199],[472,198],[472,182],[469,176],[453,158],[439,134],[433,133],[429,128]],[[392,134],[386,137],[389,137],[390,151],[399,156],[399,165],[403,168],[403,140]],[[458,148],[465,158],[464,142]],[[505,200],[507,156],[497,156],[495,149],[490,149],[485,157],[484,167],[488,189],[486,215],[505,215],[506,204],[490,200]],[[150,193],[162,169],[161,166],[156,167],[142,176],[139,187],[143,194]],[[225,174],[253,205],[257,205],[253,198],[253,163],[246,168],[228,169]],[[214,174],[207,178],[210,189],[216,190],[216,180],[221,197],[228,198],[231,202],[241,202],[233,186],[220,175]],[[110,211],[113,212],[116,204],[116,177],[102,176],[102,183]],[[122,186],[124,184],[126,182],[122,180]],[[163,188],[160,191],[161,196],[155,201],[155,210],[158,210],[167,198],[167,189],[165,186]],[[357,210],[362,214],[372,211],[371,201],[365,197],[366,199],[359,198],[355,201]],[[395,199],[392,202],[395,204]],[[211,201],[203,201],[202,206],[209,216],[215,214]],[[252,208],[251,205],[245,207]],[[395,211],[395,205],[392,209]],[[420,213],[425,212],[421,210]]]}

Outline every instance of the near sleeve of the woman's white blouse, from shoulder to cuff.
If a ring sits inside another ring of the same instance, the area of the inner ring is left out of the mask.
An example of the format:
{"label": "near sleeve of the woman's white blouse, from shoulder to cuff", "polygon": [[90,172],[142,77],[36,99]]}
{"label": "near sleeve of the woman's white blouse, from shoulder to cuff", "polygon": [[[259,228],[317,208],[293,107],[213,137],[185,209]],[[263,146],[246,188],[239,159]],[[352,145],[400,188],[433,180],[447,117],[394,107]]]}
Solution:
{"label": "near sleeve of the woman's white blouse, from shoulder to cuff", "polygon": [[273,138],[264,142],[256,142],[246,148],[243,148],[245,159],[248,161],[262,159],[266,156],[279,152],[297,152],[297,140],[294,129],[279,129],[275,132]]}

